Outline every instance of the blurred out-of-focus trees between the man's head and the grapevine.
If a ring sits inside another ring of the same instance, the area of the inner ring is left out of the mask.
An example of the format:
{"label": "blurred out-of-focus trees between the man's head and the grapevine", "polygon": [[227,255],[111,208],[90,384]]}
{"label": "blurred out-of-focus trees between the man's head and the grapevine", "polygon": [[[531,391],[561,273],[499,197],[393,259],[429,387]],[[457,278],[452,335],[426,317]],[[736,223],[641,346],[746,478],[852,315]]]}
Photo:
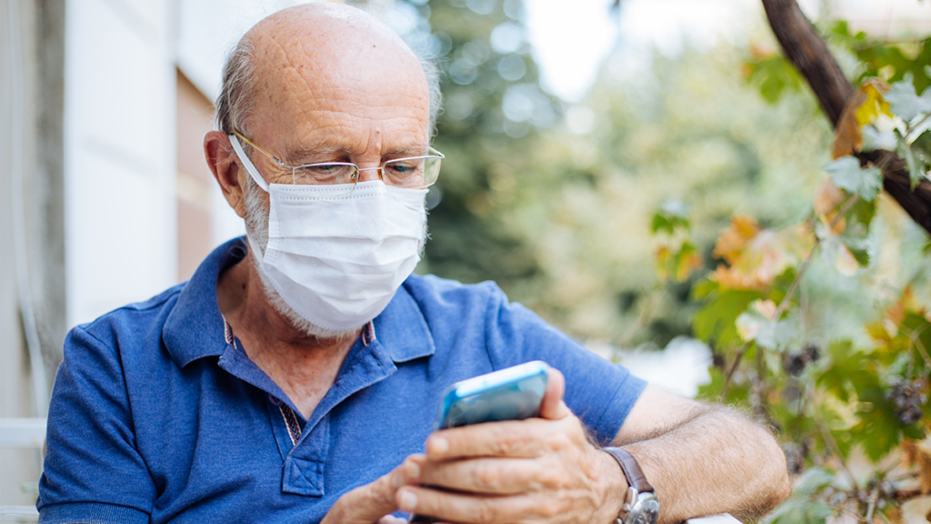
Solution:
{"label": "blurred out-of-focus trees between the man's head and the grapevine", "polygon": [[[445,112],[435,145],[447,156],[418,272],[493,280],[575,338],[663,347],[691,332],[692,273],[714,267],[732,214],[773,223],[805,213],[830,130],[811,117],[809,95],[773,105],[748,89],[743,49],[656,53],[643,71],[609,58],[587,98],[569,104],[539,85],[519,0],[411,8],[429,15],[436,39]],[[523,62],[522,76],[506,59]],[[664,248],[651,236],[663,205],[689,215],[688,242],[670,233]]]}

